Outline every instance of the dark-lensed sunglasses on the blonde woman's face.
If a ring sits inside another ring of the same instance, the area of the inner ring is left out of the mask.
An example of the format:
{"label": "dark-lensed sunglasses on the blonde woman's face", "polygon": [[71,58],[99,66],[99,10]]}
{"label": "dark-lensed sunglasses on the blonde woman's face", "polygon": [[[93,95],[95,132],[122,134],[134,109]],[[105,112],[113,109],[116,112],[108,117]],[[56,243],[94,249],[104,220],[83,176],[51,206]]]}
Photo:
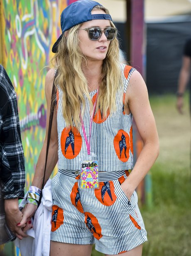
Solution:
{"label": "dark-lensed sunglasses on the blonde woman's face", "polygon": [[87,27],[79,30],[87,31],[88,38],[92,41],[99,40],[102,36],[102,33],[105,34],[107,40],[112,41],[117,33],[117,29],[115,27]]}

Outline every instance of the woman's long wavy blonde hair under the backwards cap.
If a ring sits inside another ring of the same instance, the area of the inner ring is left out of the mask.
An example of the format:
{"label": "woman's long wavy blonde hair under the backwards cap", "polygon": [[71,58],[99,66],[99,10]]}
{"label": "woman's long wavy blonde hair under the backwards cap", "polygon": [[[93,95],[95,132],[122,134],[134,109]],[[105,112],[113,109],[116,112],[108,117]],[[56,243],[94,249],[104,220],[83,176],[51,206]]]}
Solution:
{"label": "woman's long wavy blonde hair under the backwards cap", "polygon": [[[109,11],[100,5],[96,5],[93,10],[104,10],[106,14]],[[111,27],[115,27],[110,21]],[[81,64],[86,63],[79,47],[78,29],[82,24],[76,25],[66,31],[59,42],[58,52],[51,59],[51,64],[58,70],[55,84],[59,85],[63,92],[62,111],[66,126],[81,126],[80,114],[85,109],[86,95],[91,111],[93,103],[88,91],[88,83],[82,71]],[[110,113],[116,110],[116,92],[120,87],[120,65],[119,65],[119,42],[115,38],[110,42],[107,55],[103,60],[97,106],[101,109],[103,117],[106,117],[108,110]],[[81,110],[82,105],[82,110]]]}

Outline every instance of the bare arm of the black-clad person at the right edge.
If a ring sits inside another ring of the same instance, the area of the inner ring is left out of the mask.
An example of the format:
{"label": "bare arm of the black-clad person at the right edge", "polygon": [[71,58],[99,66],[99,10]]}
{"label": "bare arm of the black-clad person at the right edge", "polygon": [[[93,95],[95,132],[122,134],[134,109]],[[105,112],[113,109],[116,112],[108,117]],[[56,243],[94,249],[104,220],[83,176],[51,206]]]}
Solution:
{"label": "bare arm of the black-clad person at the right edge", "polygon": [[[184,92],[191,77],[191,38],[184,45],[182,66],[179,73],[176,107],[180,114],[183,114]],[[190,114],[191,114],[191,83],[190,83]]]}

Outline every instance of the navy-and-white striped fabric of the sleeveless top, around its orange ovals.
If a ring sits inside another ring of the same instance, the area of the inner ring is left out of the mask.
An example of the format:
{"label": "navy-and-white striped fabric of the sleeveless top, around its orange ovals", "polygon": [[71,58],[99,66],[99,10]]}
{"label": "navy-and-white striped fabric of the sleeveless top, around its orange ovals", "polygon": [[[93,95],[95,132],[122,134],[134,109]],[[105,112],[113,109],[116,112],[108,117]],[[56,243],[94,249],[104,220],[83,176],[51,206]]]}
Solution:
{"label": "navy-and-white striped fabric of the sleeveless top, around its orange ovals", "polygon": [[[128,77],[126,78],[124,75],[124,70],[126,65],[121,64],[122,71],[122,86],[121,90],[119,90],[116,94],[116,104],[117,111],[102,123],[92,123],[91,130],[91,154],[93,155],[93,159],[99,161],[99,170],[100,171],[120,171],[120,170],[128,170],[133,167],[133,154],[129,149],[128,161],[122,162],[118,155],[115,152],[114,148],[114,138],[118,134],[120,130],[125,131],[130,137],[130,129],[132,127],[132,114],[124,114],[123,113],[123,102],[122,97],[123,94],[127,90],[128,82],[132,72],[135,71],[134,68],[130,69]],[[62,150],[61,150],[61,134],[64,128],[66,127],[66,123],[64,121],[62,115],[62,92],[58,87],[59,91],[59,100],[57,100],[58,104],[58,112],[57,112],[57,125],[58,125],[58,138],[59,138],[59,169],[68,169],[68,170],[78,170],[80,169],[80,161],[86,161],[88,159],[87,148],[85,139],[83,136],[82,129],[80,129],[80,134],[82,137],[82,147],[80,152],[73,159],[67,159]],[[90,97],[93,98],[97,90],[90,92]],[[85,97],[85,96],[84,96]],[[86,98],[85,98],[86,99]],[[88,104],[88,100],[86,99],[86,111],[83,116],[84,127],[86,131],[87,138],[89,140],[89,127],[90,127],[90,107]],[[130,144],[130,139],[126,139],[126,143]],[[75,150],[75,137],[74,137],[74,150]],[[63,146],[62,146],[63,147]]]}

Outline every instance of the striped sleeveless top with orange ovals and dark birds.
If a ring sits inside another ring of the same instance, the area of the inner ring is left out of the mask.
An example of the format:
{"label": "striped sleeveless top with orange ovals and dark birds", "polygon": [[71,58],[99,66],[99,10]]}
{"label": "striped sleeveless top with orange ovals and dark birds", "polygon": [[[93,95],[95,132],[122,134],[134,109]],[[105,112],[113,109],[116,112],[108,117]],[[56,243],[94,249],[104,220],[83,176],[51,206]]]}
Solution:
{"label": "striped sleeveless top with orange ovals and dark birds", "polygon": [[[57,127],[59,141],[59,169],[79,170],[81,161],[99,161],[99,171],[121,171],[133,167],[133,141],[132,141],[132,114],[125,114],[124,100],[128,82],[134,68],[120,64],[122,72],[122,86],[116,94],[116,111],[107,118],[102,117],[98,110],[94,114],[90,149],[91,156],[88,158],[86,142],[82,127],[67,127],[62,114],[62,91],[57,87]],[[90,92],[93,103],[96,101],[97,90]],[[84,128],[89,142],[89,128],[91,122],[90,106],[86,100],[86,109],[83,116]]]}

